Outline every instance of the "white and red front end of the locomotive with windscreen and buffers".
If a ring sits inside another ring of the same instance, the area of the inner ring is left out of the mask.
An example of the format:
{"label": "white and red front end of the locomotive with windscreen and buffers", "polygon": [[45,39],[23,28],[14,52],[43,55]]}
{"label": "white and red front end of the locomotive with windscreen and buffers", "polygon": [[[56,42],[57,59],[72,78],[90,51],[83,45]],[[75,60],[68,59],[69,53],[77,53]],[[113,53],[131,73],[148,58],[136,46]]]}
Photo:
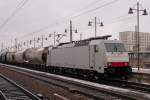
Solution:
{"label": "white and red front end of the locomotive with windscreen and buffers", "polygon": [[129,56],[124,44],[119,41],[104,43],[106,48],[106,73],[108,74],[130,74],[132,68],[129,65]]}

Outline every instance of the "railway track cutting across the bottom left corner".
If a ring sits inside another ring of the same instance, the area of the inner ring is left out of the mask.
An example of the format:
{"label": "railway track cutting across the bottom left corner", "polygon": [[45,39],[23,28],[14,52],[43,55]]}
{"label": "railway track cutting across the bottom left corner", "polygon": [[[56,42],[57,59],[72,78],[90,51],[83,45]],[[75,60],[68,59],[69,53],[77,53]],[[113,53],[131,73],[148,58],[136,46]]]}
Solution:
{"label": "railway track cutting across the bottom left corner", "polygon": [[0,74],[0,100],[41,100],[12,80]]}

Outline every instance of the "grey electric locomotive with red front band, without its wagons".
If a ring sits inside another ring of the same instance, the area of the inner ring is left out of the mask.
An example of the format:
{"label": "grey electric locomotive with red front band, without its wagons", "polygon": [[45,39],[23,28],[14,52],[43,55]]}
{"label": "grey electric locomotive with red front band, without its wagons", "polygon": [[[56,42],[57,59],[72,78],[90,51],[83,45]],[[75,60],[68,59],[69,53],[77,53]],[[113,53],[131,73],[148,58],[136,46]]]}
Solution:
{"label": "grey electric locomotive with red front band, without its wagons", "polygon": [[131,73],[124,44],[119,40],[107,40],[108,37],[110,35],[62,43],[49,49],[47,66],[80,75]]}

